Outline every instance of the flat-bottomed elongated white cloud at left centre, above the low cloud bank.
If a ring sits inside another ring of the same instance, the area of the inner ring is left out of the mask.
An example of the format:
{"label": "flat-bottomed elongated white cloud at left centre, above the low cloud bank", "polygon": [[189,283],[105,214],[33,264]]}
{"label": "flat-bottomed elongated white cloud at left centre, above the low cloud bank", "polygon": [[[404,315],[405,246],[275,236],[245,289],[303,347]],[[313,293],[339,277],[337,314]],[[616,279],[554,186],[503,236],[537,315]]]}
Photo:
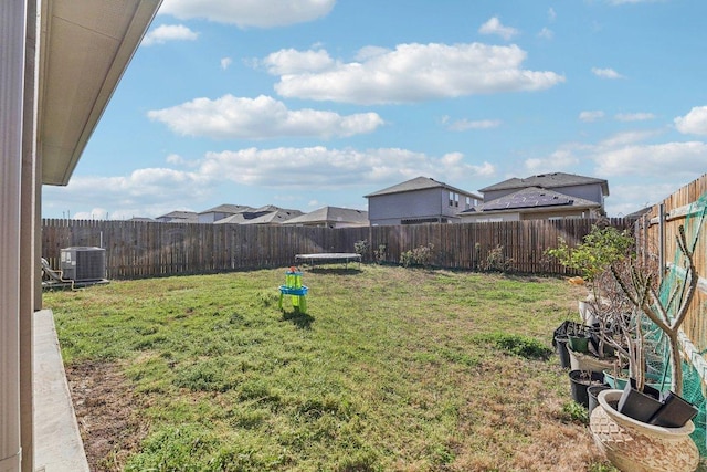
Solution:
{"label": "flat-bottomed elongated white cloud at left centre, above the low cloud bank", "polygon": [[148,112],[172,132],[217,139],[264,139],[283,136],[354,136],[373,132],[383,124],[377,113],[342,116],[316,109],[287,109],[285,104],[261,95],[240,98],[196,98],[170,108]]}

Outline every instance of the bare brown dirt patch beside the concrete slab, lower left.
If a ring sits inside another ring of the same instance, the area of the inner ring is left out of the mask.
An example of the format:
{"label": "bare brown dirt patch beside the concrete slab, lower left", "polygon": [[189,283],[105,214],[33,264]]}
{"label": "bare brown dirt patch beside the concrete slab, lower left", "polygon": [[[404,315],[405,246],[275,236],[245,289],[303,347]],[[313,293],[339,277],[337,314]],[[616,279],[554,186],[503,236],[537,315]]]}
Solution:
{"label": "bare brown dirt patch beside the concrete slab, lower left", "polygon": [[147,433],[125,375],[115,364],[86,361],[68,366],[66,377],[91,470],[123,470]]}

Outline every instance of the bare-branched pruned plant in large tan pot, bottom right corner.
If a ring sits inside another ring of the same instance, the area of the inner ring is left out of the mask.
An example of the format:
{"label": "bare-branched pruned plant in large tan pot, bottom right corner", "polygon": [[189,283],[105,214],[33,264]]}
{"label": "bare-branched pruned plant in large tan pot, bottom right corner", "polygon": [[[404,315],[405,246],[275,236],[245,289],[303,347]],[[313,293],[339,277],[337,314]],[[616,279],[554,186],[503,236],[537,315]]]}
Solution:
{"label": "bare-branched pruned plant in large tan pot, bottom right corner", "polygon": [[[621,334],[623,345],[615,344],[619,356],[629,360],[632,378],[623,391],[604,390],[599,394],[600,408],[594,409],[590,417],[590,430],[599,448],[620,469],[692,471],[699,461],[697,447],[689,438],[694,431],[690,419],[697,410],[680,397],[683,370],[678,329],[698,282],[694,264],[695,245],[687,244],[682,227],[677,244],[685,256],[685,271],[682,283],[667,297],[659,296],[657,268],[641,265],[635,260],[624,261],[623,266],[613,264],[611,274],[615,284],[603,286],[606,293],[612,294],[610,298],[614,298],[614,303],[609,305],[610,310],[600,312],[600,316],[610,318]],[[612,292],[616,287],[619,291]],[[665,396],[656,392],[645,395],[650,390],[645,384],[646,356],[651,349],[650,339],[645,336],[647,327],[657,327],[667,340],[671,391]],[[640,417],[631,406],[634,398],[643,401],[646,397],[658,397],[655,410],[647,418]],[[675,403],[686,408],[677,419],[667,420],[665,417],[669,416]]]}

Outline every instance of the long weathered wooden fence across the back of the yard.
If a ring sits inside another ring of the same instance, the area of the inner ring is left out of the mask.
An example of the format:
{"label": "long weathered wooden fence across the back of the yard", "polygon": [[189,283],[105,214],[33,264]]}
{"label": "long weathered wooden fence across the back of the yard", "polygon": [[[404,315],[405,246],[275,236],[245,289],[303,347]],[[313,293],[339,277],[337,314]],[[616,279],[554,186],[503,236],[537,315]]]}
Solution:
{"label": "long weathered wooden fence across the back of the yard", "polygon": [[[374,260],[373,252],[384,248],[382,261],[398,263],[403,252],[432,244],[431,264],[439,268],[478,270],[494,255],[511,271],[566,274],[566,268],[547,260],[546,249],[555,248],[558,237],[570,244],[581,241],[595,222],[574,219],[330,229],[45,219],[42,256],[59,269],[63,248],[105,248],[108,277],[136,279],[289,266],[295,254],[354,252],[358,241],[367,241],[365,261]],[[624,219],[603,223],[632,227]]]}

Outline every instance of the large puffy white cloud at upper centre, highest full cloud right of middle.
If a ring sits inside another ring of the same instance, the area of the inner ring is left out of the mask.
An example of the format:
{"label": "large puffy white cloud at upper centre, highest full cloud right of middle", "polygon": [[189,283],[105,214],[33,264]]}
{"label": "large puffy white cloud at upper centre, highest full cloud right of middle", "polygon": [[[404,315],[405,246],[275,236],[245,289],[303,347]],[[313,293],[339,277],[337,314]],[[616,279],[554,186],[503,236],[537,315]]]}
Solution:
{"label": "large puffy white cloud at upper centre, highest full cloud right of middle", "polygon": [[[275,53],[273,72],[282,74],[278,94],[317,101],[357,104],[413,103],[500,92],[531,92],[564,82],[549,71],[520,69],[526,52],[517,45],[399,44],[394,51],[377,51],[360,62],[316,62],[304,67],[308,53],[283,50]],[[325,57],[316,51],[317,57]],[[325,71],[321,71],[326,63]],[[283,64],[288,64],[286,67]]]}

